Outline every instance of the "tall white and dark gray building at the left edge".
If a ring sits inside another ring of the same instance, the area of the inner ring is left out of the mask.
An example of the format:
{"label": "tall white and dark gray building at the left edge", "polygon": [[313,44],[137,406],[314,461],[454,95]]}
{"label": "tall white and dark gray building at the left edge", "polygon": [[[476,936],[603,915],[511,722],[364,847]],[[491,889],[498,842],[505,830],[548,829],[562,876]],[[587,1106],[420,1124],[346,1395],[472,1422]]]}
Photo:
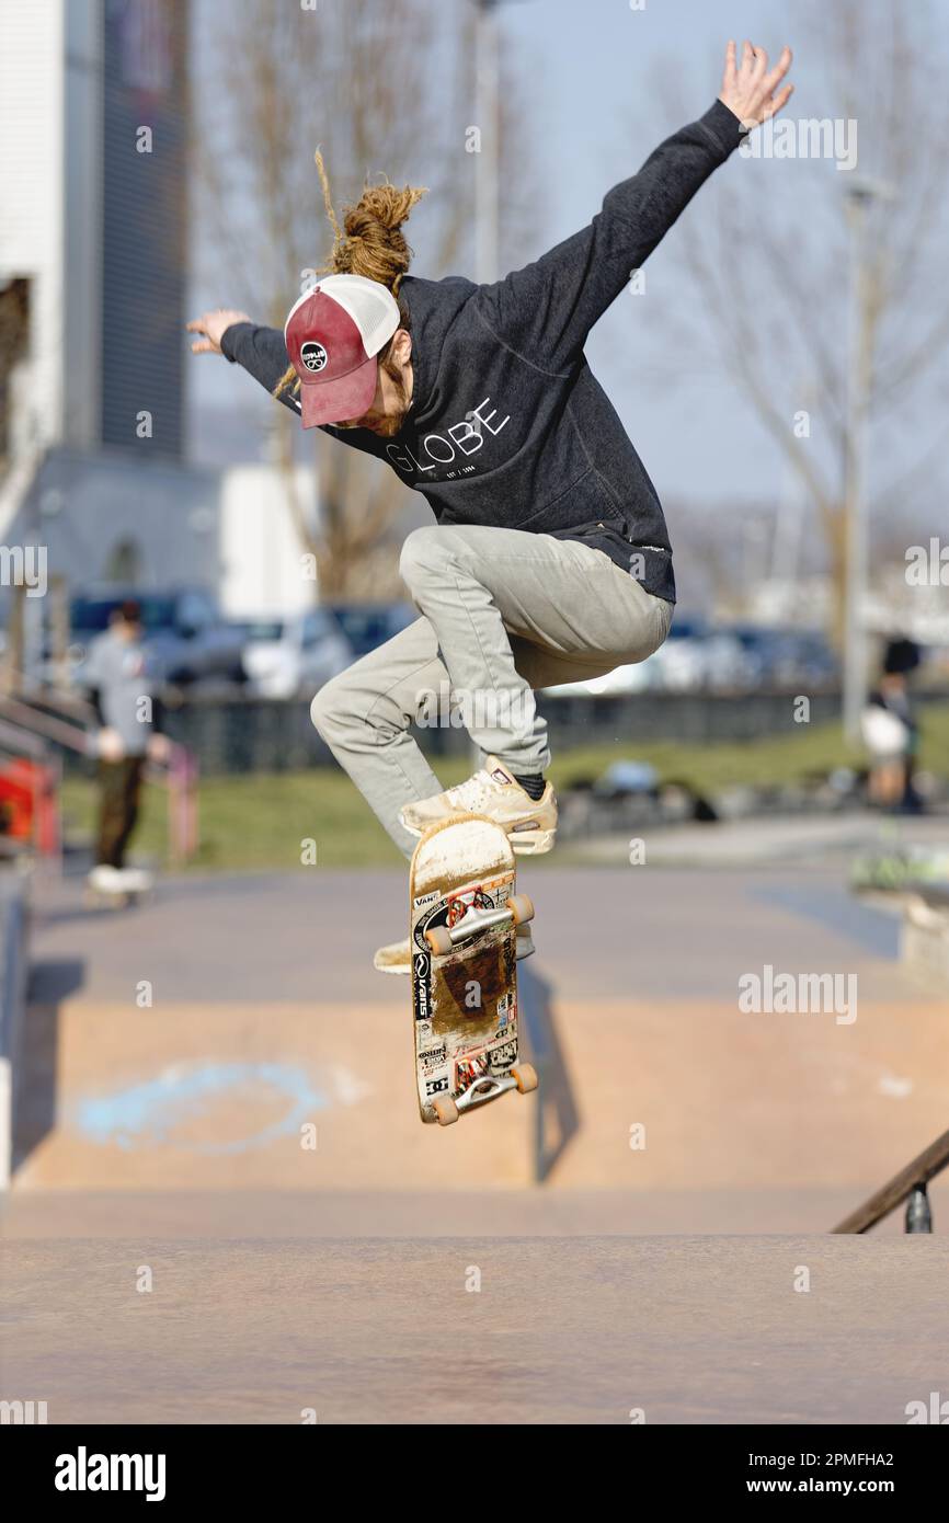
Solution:
{"label": "tall white and dark gray building at the left edge", "polygon": [[219,582],[219,475],[181,458],[187,21],[0,0],[0,541],[76,589]]}

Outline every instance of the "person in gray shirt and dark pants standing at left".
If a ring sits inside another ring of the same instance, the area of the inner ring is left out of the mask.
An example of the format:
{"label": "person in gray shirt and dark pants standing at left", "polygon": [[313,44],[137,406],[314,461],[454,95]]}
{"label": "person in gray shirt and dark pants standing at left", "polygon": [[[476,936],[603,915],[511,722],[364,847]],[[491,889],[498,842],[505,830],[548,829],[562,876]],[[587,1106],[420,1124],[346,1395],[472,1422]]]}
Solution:
{"label": "person in gray shirt and dark pants standing at left", "polygon": [[157,730],[158,704],[142,644],[139,603],[122,603],[105,634],[93,640],[84,681],[101,725],[94,736],[99,824],[90,886],[129,888],[134,885],[126,882],[125,853],[139,819],[145,763],[165,762],[169,754],[168,739]]}

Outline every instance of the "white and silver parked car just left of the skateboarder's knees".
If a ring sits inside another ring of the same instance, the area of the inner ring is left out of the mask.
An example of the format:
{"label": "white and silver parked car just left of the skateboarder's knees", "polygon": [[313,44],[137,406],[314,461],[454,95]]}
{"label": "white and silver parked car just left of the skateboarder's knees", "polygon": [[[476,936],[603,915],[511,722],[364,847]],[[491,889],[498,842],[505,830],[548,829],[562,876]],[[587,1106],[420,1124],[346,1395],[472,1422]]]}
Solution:
{"label": "white and silver parked car just left of the skateboarder's knees", "polygon": [[294,618],[245,620],[244,670],[260,698],[312,696],[353,661],[353,649],[326,608]]}

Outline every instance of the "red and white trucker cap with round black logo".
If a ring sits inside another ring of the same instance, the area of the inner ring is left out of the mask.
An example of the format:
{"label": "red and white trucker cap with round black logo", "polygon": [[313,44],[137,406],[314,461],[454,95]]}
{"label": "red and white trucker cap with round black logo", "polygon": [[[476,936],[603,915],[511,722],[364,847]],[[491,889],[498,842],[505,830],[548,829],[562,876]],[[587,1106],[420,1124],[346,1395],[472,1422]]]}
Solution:
{"label": "red and white trucker cap with round black logo", "polygon": [[376,355],[399,326],[391,291],[366,276],[323,276],[289,311],[286,352],[300,376],[303,428],[363,417],[376,394]]}

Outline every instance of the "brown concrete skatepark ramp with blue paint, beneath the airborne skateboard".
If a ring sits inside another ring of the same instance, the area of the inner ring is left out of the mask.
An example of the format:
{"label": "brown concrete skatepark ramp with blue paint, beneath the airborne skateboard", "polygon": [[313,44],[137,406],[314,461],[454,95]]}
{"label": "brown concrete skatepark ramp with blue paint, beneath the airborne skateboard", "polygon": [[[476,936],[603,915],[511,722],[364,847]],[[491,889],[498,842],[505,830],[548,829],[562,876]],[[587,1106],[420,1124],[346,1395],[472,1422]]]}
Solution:
{"label": "brown concrete skatepark ramp with blue paint, beneath the airborne skateboard", "polygon": [[[5,1394],[52,1422],[905,1421],[938,1389],[943,1240],[826,1234],[943,1129],[944,1004],[829,882],[596,877],[582,940],[585,874],[530,889],[579,1116],[542,1186],[533,1097],[419,1124],[407,991],[337,880],[40,905]],[[401,876],[352,879],[382,940]],[[859,1019],[742,1016],[765,961],[855,973]]]}

